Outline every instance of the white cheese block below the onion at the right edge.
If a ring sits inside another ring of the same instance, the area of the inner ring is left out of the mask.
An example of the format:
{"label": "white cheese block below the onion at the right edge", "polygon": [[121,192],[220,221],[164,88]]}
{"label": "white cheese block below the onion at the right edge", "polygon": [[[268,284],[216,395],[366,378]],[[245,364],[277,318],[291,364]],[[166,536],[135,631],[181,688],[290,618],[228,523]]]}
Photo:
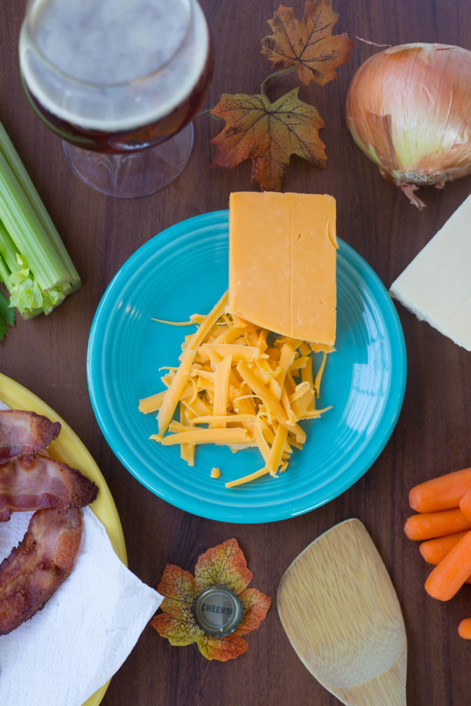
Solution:
{"label": "white cheese block below the onion at the right edge", "polygon": [[471,196],[393,282],[390,294],[471,350]]}

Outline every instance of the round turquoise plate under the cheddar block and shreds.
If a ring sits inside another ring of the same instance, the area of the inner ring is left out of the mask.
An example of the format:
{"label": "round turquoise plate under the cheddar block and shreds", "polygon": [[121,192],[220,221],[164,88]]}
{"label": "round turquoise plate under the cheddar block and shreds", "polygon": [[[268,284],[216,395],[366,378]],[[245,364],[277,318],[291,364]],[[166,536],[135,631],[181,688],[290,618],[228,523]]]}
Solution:
{"label": "round turquoise plate under the cheddar block and shreds", "polygon": [[[337,350],[323,375],[321,418],[303,422],[304,450],[294,450],[278,478],[227,489],[225,482],[263,463],[256,449],[197,448],[189,467],[179,447],[149,440],[155,414],[138,400],[162,389],[162,366],[174,366],[188,321],[207,313],[227,289],[227,211],[177,223],[124,263],[98,306],[87,354],[88,388],[97,421],[121,463],[138,481],[189,513],[225,522],[272,522],[307,513],[340,495],[378,457],[403,402],[406,355],[395,308],[374,271],[339,239]],[[219,479],[210,477],[213,467]]]}

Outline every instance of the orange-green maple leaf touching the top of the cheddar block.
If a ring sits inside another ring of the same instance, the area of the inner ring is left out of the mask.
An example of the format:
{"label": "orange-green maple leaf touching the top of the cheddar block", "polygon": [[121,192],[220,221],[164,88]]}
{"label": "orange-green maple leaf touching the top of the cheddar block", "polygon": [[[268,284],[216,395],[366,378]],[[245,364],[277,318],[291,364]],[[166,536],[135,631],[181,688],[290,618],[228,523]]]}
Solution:
{"label": "orange-green maple leaf touching the top of the cheddar block", "polygon": [[265,191],[280,191],[290,155],[326,166],[325,145],[318,136],[324,122],[317,109],[297,97],[298,89],[271,103],[264,95],[224,93],[211,113],[225,120],[211,142],[213,167],[235,167],[252,160],[251,181]]}

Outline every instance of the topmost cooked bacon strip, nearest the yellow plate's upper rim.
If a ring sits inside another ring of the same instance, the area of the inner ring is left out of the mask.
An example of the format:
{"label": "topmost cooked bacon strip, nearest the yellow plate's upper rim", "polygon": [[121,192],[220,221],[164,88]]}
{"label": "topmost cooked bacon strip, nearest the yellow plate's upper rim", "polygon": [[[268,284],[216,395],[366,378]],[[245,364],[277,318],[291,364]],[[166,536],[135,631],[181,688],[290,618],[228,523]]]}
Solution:
{"label": "topmost cooked bacon strip, nearest the yellow plate's upper rim", "polygon": [[58,421],[51,421],[23,409],[0,410],[0,463],[18,456],[32,459],[47,448],[61,431]]}

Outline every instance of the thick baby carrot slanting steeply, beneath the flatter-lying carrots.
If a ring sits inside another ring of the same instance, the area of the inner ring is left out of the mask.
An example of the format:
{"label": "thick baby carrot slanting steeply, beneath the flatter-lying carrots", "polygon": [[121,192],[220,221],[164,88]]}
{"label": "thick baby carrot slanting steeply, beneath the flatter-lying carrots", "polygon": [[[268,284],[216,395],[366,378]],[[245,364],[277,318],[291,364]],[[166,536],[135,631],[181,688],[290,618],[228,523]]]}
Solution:
{"label": "thick baby carrot slanting steeply, beneath the flatter-lying carrots", "polygon": [[471,532],[467,532],[431,571],[425,582],[425,590],[439,601],[449,601],[470,574]]}

